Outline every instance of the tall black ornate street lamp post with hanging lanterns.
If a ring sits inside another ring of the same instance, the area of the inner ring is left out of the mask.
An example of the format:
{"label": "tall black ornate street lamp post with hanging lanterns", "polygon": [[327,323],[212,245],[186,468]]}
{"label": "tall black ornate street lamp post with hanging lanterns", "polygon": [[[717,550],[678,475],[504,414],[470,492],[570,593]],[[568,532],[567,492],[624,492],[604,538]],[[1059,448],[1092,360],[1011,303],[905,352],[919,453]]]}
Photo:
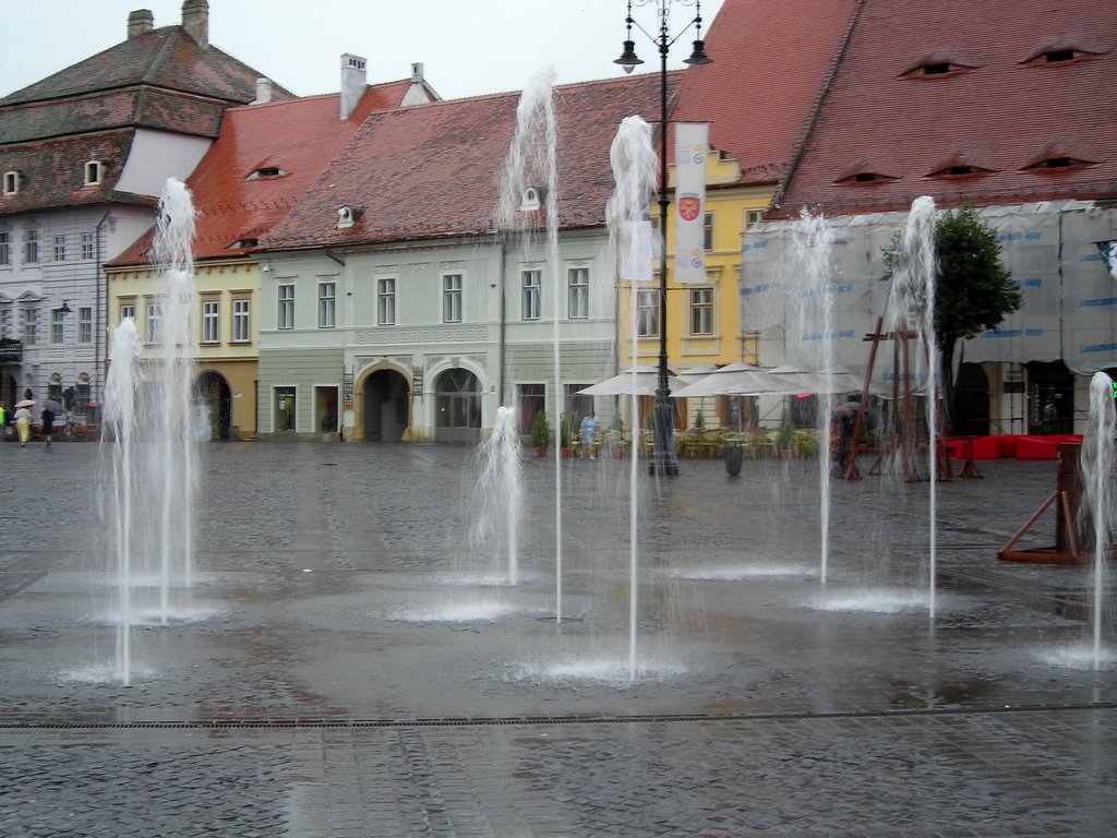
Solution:
{"label": "tall black ornate street lamp post with hanging lanterns", "polygon": [[[675,1],[682,6],[691,4],[688,0]],[[636,54],[636,45],[632,40],[633,26],[659,47],[659,369],[653,417],[655,439],[648,473],[651,475],[677,475],[679,463],[675,456],[672,440],[675,410],[671,407],[671,389],[667,381],[667,207],[670,203],[667,197],[667,54],[675,41],[694,26],[696,35],[694,50],[689,58],[684,59],[684,64],[712,64],[713,61],[706,55],[701,40],[701,0],[694,0],[695,17],[674,38],[669,26],[671,0],[636,0],[637,6],[652,3],[659,13],[658,35],[651,35],[632,19],[632,0],[629,0],[628,17],[624,21],[628,27],[628,37],[624,40],[621,57],[614,64],[621,65],[626,73],[631,73],[637,65],[643,64]]]}

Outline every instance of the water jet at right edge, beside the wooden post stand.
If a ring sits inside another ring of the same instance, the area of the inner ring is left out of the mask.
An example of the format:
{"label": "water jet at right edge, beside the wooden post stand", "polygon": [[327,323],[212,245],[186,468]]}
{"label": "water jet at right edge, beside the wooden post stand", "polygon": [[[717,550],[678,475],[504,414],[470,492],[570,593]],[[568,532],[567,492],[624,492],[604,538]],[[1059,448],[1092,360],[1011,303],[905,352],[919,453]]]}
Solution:
{"label": "water jet at right edge, beside the wooden post stand", "polygon": [[1082,504],[1079,514],[1087,517],[1094,537],[1094,668],[1101,668],[1101,623],[1105,613],[1105,582],[1109,551],[1109,522],[1114,515],[1114,382],[1096,372],[1090,380],[1090,412],[1079,473],[1082,477]]}

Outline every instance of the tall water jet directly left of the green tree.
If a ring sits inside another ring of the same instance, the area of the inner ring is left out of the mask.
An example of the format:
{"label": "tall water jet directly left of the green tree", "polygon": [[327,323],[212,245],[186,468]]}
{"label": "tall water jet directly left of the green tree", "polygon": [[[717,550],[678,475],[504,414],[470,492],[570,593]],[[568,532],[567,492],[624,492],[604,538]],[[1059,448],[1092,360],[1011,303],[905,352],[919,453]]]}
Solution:
{"label": "tall water jet directly left of the green tree", "polygon": [[[911,381],[926,382],[928,501],[928,597],[935,619],[935,593],[938,552],[938,343],[935,340],[935,201],[928,196],[911,202],[904,227],[898,259],[889,288],[889,331],[896,335],[916,334],[915,373]],[[914,327],[914,328],[913,328]],[[913,434],[907,429],[907,434]]]}

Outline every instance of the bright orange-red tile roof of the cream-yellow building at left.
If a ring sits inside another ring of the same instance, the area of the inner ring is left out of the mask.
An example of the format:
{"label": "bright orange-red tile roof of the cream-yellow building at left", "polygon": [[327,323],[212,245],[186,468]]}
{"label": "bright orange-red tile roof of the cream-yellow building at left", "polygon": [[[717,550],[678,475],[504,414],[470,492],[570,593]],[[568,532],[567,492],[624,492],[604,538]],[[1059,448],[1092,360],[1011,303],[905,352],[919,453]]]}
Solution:
{"label": "bright orange-red tile roof of the cream-yellow building at left", "polygon": [[[264,236],[297,206],[323,170],[374,111],[399,105],[410,82],[369,87],[353,114],[340,118],[340,95],[247,105],[226,111],[221,135],[187,185],[198,210],[194,257],[242,256],[230,245]],[[250,178],[262,169],[285,174]],[[113,260],[147,261],[151,234]]]}

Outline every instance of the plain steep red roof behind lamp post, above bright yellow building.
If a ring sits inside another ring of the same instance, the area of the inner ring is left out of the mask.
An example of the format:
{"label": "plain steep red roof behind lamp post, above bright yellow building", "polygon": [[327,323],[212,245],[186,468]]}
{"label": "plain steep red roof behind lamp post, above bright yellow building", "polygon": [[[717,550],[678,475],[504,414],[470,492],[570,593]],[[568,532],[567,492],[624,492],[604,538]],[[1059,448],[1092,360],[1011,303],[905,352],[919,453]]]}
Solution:
{"label": "plain steep red roof behind lamp post, above bright yellow building", "polygon": [[687,68],[671,118],[709,122],[710,144],[736,158],[742,183],[775,183],[856,8],[857,0],[725,0],[706,37],[714,63]]}

